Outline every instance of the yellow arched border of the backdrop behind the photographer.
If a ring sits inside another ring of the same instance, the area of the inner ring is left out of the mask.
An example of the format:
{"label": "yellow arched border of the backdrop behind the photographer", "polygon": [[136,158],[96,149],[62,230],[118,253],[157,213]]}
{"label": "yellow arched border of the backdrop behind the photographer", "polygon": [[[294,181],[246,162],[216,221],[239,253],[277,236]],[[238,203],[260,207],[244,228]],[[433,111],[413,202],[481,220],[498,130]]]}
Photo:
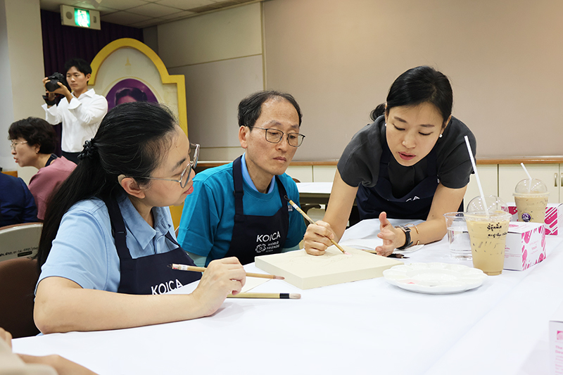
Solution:
{"label": "yellow arched border of the backdrop behind the photographer", "polygon": [[88,84],[96,84],[96,75],[101,67],[103,61],[110,56],[111,53],[122,48],[134,48],[139,50],[141,53],[151,59],[156,69],[160,73],[160,80],[163,84],[176,84],[178,93],[178,121],[182,130],[188,134],[188,115],[186,110],[186,82],[184,81],[183,75],[169,75],[166,66],[160,57],[146,44],[139,42],[137,39],[132,38],[122,38],[117,39],[103,47],[101,51],[98,52],[94,60],[91,62],[92,72],[90,75],[90,80]]}

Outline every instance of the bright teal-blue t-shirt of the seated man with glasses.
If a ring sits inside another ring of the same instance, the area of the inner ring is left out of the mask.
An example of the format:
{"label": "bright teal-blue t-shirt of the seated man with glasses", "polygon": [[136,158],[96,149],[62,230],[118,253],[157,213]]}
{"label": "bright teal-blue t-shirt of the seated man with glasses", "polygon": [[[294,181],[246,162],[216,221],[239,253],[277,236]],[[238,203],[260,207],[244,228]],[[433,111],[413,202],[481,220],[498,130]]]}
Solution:
{"label": "bright teal-blue t-shirt of the seated man with glasses", "polygon": [[[279,179],[291,201],[298,203],[299,191],[293,179],[285,173]],[[260,193],[243,178],[244,215],[272,216],[281,208],[276,179],[272,179],[272,185],[267,193]],[[206,257],[205,265],[212,260],[224,258],[231,246],[234,226],[233,190],[233,163],[229,163],[196,174],[194,192],[184,201],[178,241],[188,253]],[[284,248],[287,249],[301,242],[306,227],[301,214],[288,202],[283,204],[287,204],[289,210],[289,229],[284,243]],[[203,265],[198,257],[194,258],[196,265]]]}

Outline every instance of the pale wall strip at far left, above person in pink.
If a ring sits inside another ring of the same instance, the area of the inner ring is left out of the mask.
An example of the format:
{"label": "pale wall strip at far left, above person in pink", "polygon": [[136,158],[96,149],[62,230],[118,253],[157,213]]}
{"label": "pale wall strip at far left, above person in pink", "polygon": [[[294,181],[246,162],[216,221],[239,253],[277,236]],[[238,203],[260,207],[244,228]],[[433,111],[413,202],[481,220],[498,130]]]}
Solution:
{"label": "pale wall strip at far left, above person in pink", "polygon": [[43,44],[39,0],[0,0],[0,166],[16,170],[26,182],[37,172],[19,168],[6,140],[8,127],[24,117],[44,117]]}

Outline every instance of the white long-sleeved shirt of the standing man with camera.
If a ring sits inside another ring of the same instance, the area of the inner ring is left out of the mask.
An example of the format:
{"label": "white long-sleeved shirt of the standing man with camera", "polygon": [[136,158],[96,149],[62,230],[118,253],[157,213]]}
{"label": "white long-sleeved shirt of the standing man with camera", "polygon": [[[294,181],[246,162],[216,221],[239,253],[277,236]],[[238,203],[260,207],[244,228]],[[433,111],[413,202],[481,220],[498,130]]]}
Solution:
{"label": "white long-sleeved shirt of the standing man with camera", "polygon": [[57,125],[63,122],[61,148],[68,153],[82,151],[84,141],[94,138],[101,119],[108,112],[108,101],[97,95],[94,89],[89,89],[78,98],[72,93],[70,103],[62,98],[58,106],[47,108],[44,104],[45,120],[49,124]]}

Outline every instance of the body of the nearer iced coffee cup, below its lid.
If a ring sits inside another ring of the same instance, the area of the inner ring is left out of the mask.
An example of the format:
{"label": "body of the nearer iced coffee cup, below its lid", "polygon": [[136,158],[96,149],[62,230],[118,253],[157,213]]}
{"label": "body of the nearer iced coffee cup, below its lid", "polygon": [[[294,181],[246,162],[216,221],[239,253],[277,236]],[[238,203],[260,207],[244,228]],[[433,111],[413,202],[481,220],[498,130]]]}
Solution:
{"label": "body of the nearer iced coffee cup, below its lid", "polygon": [[473,267],[491,276],[502,273],[510,217],[510,213],[505,211],[465,214]]}

